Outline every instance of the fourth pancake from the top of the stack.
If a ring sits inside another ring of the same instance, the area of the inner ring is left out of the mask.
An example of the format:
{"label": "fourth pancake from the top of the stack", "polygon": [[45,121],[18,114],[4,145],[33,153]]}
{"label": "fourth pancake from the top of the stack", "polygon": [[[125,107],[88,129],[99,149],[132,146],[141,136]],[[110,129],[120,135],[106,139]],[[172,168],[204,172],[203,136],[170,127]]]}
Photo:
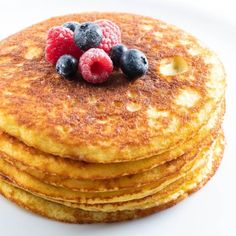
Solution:
{"label": "fourth pancake from the top of the stack", "polygon": [[71,191],[60,187],[54,187],[52,185],[40,182],[36,178],[19,171],[15,167],[11,166],[4,160],[0,159],[0,175],[8,178],[12,184],[23,188],[33,194],[39,195],[47,199],[53,199],[55,201],[68,201],[71,203],[85,203],[85,204],[104,204],[104,203],[115,203],[115,202],[127,202],[134,199],[141,199],[149,195],[155,194],[167,185],[178,180],[179,178],[186,175],[188,170],[194,168],[200,162],[201,166],[204,167],[203,157],[207,157],[211,150],[214,150],[216,142],[214,142],[210,147],[204,147],[199,151],[196,158],[193,161],[188,162],[185,168],[181,171],[167,176],[166,178],[157,180],[154,183],[145,185],[144,187],[134,186],[132,189],[119,190],[112,192],[78,192]]}

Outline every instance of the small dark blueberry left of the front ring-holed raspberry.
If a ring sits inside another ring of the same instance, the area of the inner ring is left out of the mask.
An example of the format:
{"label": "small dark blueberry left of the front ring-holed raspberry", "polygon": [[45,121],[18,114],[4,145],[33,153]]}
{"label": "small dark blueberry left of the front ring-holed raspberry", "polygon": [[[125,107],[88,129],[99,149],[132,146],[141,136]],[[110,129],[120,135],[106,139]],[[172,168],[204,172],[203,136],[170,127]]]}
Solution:
{"label": "small dark blueberry left of the front ring-holed raspberry", "polygon": [[61,56],[56,64],[56,70],[59,75],[65,78],[73,77],[78,68],[78,60],[71,55]]}

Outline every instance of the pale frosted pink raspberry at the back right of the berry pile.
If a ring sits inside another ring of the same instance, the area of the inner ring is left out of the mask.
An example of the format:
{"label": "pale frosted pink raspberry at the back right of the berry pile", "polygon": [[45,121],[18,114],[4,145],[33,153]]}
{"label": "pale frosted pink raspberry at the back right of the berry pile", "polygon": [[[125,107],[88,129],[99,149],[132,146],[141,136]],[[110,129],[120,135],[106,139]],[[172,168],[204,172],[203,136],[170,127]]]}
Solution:
{"label": "pale frosted pink raspberry at the back right of the berry pile", "polygon": [[96,23],[102,30],[103,38],[98,48],[109,53],[111,48],[121,43],[121,32],[119,26],[109,20],[98,20]]}

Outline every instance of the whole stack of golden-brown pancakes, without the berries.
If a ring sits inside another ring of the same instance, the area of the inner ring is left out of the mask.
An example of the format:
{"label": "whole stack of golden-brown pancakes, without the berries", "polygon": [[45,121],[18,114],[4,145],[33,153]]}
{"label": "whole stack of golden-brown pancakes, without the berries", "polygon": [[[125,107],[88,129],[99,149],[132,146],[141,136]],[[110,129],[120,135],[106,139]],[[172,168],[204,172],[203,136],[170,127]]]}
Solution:
{"label": "whole stack of golden-brown pancakes, without the berries", "polygon": [[[45,37],[67,21],[109,19],[142,50],[147,75],[95,86],[61,78]],[[215,173],[224,149],[225,74],[196,38],[118,13],[56,17],[0,42],[0,192],[73,223],[133,219],[170,207]]]}

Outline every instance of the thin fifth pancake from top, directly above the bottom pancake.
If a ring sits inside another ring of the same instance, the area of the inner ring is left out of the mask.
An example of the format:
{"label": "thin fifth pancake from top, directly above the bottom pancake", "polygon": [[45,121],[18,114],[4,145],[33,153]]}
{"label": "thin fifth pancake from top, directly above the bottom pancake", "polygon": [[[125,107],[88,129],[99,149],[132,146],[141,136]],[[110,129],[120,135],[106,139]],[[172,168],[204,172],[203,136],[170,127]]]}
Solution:
{"label": "thin fifth pancake from top, directly above the bottom pancake", "polygon": [[[108,204],[75,204],[70,202],[58,202],[60,204],[72,207],[79,208],[86,211],[103,211],[103,212],[116,212],[116,211],[124,211],[124,210],[136,210],[136,209],[145,209],[151,208],[158,204],[160,201],[170,200],[172,197],[170,193],[175,191],[176,197],[180,196],[186,190],[186,186],[189,184],[196,186],[201,183],[204,179],[206,173],[209,173],[209,170],[212,168],[212,163],[214,162],[214,158],[222,156],[224,150],[224,140],[221,135],[220,138],[217,139],[215,144],[211,147],[211,150],[204,157],[199,158],[191,168],[191,170],[187,171],[186,175],[181,178],[178,178],[176,181],[166,185],[163,189],[158,191],[157,193],[147,196],[141,199],[135,199],[127,202],[119,202],[119,203],[108,203]],[[215,157],[216,156],[216,157]],[[50,199],[49,199],[50,200]],[[54,200],[51,200],[54,201]]]}

